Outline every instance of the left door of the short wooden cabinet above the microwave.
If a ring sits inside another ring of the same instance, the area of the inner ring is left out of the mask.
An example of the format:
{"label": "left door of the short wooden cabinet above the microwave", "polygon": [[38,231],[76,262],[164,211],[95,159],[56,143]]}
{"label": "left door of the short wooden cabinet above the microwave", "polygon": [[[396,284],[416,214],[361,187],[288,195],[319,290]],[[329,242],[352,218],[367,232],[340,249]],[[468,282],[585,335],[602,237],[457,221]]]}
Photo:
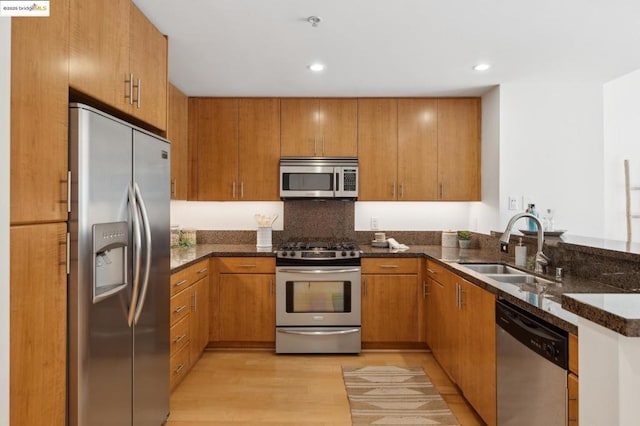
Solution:
{"label": "left door of the short wooden cabinet above the microwave", "polygon": [[318,149],[318,100],[283,98],[280,102],[282,156],[308,157],[321,155]]}

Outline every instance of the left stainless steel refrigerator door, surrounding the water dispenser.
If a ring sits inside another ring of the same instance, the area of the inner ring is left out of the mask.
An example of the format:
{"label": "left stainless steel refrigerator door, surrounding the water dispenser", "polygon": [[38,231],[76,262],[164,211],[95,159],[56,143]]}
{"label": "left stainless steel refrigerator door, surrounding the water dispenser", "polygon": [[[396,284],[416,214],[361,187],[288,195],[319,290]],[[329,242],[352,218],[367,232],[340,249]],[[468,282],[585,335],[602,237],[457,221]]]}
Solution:
{"label": "left stainless steel refrigerator door, surrounding the water dispenser", "polygon": [[128,221],[132,129],[82,108],[70,109],[69,129],[74,177],[69,220],[69,424],[130,425],[131,256],[126,260],[127,288],[94,303],[92,227]]}

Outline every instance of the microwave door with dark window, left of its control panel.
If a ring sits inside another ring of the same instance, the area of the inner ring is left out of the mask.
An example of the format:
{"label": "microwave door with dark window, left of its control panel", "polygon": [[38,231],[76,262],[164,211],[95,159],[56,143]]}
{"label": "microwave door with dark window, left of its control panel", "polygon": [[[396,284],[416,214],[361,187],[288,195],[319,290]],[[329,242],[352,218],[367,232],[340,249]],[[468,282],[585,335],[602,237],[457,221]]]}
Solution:
{"label": "microwave door with dark window, left of its control panel", "polygon": [[336,176],[328,166],[280,166],[281,198],[333,198]]}

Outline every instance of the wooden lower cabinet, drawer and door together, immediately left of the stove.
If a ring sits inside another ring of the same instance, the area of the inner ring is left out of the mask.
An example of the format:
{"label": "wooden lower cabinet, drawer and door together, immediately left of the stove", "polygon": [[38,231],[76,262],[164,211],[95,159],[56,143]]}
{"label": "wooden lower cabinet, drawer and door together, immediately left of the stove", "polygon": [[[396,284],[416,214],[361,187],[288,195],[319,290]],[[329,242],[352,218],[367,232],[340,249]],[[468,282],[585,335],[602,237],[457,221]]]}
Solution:
{"label": "wooden lower cabinet, drawer and door together, immediately left of the stove", "polygon": [[210,345],[275,347],[275,259],[218,258]]}

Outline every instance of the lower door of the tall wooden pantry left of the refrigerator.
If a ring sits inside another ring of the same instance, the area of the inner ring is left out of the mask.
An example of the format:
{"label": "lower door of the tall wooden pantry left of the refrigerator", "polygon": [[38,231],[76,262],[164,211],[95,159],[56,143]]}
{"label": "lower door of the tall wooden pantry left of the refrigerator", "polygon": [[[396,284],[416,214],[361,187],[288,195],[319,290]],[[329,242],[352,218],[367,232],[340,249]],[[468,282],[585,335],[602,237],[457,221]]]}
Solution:
{"label": "lower door of the tall wooden pantry left of the refrigerator", "polygon": [[11,227],[12,425],[65,424],[66,232],[65,223]]}

